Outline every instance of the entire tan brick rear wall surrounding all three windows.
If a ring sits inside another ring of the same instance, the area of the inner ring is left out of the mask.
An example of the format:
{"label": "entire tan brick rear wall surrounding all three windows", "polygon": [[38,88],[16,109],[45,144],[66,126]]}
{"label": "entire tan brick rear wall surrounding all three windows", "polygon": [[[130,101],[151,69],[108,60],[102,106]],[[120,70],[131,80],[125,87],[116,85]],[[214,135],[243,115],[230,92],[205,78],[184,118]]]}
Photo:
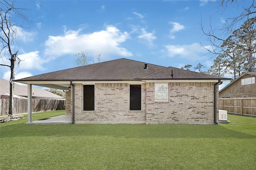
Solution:
{"label": "entire tan brick rear wall surrounding all three windows", "polygon": [[82,87],[75,84],[75,123],[214,124],[214,83],[168,83],[168,102],[154,101],[154,83],[142,84],[142,111],[129,111],[127,83],[96,83],[95,111],[83,111]]}

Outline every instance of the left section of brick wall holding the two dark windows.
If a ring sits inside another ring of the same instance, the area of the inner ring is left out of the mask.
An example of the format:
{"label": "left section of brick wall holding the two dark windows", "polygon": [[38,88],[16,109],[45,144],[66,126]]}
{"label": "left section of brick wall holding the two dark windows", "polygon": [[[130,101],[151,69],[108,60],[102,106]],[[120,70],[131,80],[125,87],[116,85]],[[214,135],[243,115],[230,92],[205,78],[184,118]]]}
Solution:
{"label": "left section of brick wall holding the two dark windows", "polygon": [[99,83],[95,111],[83,111],[82,84],[75,84],[75,123],[146,123],[145,108],[144,103],[142,111],[129,111],[129,84]]}

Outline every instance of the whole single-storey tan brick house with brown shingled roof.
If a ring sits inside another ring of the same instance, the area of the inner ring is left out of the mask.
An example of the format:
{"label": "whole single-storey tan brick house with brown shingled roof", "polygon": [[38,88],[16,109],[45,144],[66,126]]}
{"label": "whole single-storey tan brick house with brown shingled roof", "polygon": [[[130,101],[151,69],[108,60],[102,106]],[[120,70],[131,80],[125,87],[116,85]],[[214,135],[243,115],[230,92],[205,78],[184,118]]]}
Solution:
{"label": "whole single-storey tan brick house with brown shingled roof", "polygon": [[66,90],[72,123],[216,124],[218,84],[225,80],[117,59],[16,82]]}

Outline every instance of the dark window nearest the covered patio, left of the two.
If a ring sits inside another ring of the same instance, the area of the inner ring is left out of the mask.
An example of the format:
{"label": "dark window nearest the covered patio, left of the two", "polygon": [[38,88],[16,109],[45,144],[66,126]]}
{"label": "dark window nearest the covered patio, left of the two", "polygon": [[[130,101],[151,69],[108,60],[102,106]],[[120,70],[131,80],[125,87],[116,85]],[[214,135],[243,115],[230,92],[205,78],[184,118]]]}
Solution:
{"label": "dark window nearest the covered patio, left of the two", "polygon": [[84,111],[94,111],[94,85],[84,85]]}

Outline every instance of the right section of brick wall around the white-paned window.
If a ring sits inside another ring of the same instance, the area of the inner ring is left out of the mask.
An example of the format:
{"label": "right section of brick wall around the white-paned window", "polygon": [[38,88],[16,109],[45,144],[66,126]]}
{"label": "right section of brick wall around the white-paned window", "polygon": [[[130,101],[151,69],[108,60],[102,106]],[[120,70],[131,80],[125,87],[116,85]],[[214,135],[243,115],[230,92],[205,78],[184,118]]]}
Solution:
{"label": "right section of brick wall around the white-paned window", "polygon": [[168,83],[168,102],[154,101],[154,83],[146,83],[149,124],[214,124],[214,83]]}

